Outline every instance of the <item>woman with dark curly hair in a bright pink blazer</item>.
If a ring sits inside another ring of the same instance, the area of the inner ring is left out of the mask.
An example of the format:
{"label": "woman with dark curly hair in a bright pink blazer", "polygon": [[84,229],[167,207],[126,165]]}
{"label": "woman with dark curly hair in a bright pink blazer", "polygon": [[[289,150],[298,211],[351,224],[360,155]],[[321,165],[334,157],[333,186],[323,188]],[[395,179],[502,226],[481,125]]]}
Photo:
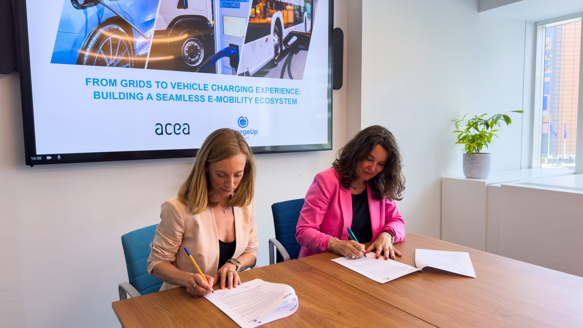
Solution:
{"label": "woman with dark curly hair in a bright pink blazer", "polygon": [[[297,222],[299,257],[333,252],[353,259],[376,250],[385,260],[401,256],[393,243],[405,237],[405,223],[394,200],[402,200],[405,177],[395,137],[373,125],[338,152],[332,168],[318,173],[305,195]],[[348,240],[352,229],[359,242]]]}

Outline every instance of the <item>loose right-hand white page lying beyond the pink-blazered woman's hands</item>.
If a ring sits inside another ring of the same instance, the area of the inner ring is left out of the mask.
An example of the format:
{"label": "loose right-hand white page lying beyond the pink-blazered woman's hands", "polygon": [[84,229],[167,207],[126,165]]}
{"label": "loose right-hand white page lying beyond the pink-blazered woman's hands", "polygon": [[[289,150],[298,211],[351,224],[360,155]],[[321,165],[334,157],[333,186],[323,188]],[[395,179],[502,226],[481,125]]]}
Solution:
{"label": "loose right-hand white page lying beyond the pink-blazered woman's hands", "polygon": [[415,249],[415,266],[421,270],[432,267],[476,278],[468,252]]}

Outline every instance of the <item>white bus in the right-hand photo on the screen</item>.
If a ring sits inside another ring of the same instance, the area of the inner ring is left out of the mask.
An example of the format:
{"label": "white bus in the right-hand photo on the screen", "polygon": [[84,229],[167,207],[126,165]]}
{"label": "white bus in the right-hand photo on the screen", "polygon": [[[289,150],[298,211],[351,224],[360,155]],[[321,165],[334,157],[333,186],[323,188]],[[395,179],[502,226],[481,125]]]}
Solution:
{"label": "white bus in the right-hand photo on the screen", "polygon": [[311,19],[310,0],[252,0],[238,74],[254,75],[269,62],[278,64],[287,33],[310,32]]}

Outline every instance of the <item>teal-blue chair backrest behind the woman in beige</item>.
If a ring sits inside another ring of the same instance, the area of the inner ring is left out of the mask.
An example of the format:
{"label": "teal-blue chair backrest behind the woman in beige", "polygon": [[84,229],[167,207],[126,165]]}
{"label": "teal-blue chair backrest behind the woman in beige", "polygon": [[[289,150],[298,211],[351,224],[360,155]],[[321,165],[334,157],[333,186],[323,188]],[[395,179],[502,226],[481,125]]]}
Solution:
{"label": "teal-blue chair backrest behind the woman in beige", "polygon": [[150,256],[150,243],[154,240],[157,226],[157,224],[146,226],[121,236],[125,265],[128,267],[129,284],[142,295],[157,292],[162,285],[160,279],[153,275],[147,275],[146,266],[146,261]]}

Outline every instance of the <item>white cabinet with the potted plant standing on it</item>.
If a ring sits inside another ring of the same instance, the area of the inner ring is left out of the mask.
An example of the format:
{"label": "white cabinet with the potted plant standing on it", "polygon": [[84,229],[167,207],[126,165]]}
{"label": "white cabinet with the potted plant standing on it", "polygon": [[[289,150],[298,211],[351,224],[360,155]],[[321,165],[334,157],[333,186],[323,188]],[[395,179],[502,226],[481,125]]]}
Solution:
{"label": "white cabinet with the potted plant standing on it", "polygon": [[498,253],[500,184],[573,175],[563,169],[492,172],[487,179],[463,176],[441,179],[441,239]]}

